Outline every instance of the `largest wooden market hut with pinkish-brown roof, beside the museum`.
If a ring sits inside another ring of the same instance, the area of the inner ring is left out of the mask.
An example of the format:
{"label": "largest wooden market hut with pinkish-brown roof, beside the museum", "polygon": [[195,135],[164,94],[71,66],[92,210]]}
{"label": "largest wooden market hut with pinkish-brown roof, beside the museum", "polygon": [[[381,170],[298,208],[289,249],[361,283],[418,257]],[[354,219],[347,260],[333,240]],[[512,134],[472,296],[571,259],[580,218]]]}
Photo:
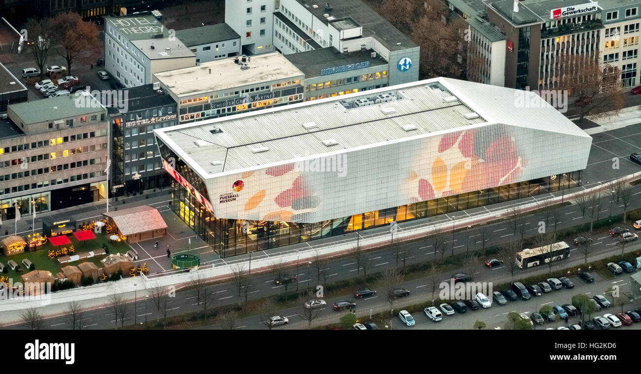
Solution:
{"label": "largest wooden market hut with pinkish-brown roof, beside the museum", "polygon": [[137,206],[129,209],[103,213],[108,225],[127,243],[152,240],[167,235],[167,224],[158,209],[151,206]]}

